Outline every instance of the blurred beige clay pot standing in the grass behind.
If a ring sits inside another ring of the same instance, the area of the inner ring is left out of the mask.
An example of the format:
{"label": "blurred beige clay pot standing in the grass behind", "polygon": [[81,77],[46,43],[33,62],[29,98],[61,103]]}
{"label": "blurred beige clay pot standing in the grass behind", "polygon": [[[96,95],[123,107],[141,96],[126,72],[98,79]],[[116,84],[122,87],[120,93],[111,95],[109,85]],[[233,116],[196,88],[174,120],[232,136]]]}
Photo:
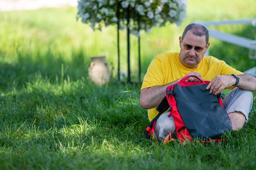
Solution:
{"label": "blurred beige clay pot standing in the grass behind", "polygon": [[88,68],[90,79],[99,85],[105,84],[110,80],[110,70],[106,62],[105,56],[91,57],[91,62]]}

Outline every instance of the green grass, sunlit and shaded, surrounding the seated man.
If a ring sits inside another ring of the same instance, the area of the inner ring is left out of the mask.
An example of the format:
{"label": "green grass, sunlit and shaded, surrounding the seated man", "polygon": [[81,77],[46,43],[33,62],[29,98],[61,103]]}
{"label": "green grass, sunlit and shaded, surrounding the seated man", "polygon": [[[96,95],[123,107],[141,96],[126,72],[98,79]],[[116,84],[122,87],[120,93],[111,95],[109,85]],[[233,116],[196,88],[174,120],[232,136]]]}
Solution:
{"label": "green grass, sunlit and shaded, surrounding the seated man", "polygon": [[[179,50],[177,40],[186,24],[198,18],[256,18],[255,7],[254,0],[189,0],[181,27],[168,24],[141,33],[143,73],[155,55]],[[256,169],[255,97],[248,124],[227,134],[226,142],[146,141],[148,118],[139,106],[141,83],[125,84],[115,78],[116,27],[93,32],[76,22],[75,15],[75,8],[0,12],[0,169]],[[213,28],[251,39],[256,33],[250,25]],[[121,32],[124,71],[125,34]],[[136,81],[137,39],[131,38]],[[210,42],[210,54],[231,66],[245,71],[256,65],[247,49]],[[106,55],[113,74],[103,86],[87,76],[90,57],[97,55]]]}

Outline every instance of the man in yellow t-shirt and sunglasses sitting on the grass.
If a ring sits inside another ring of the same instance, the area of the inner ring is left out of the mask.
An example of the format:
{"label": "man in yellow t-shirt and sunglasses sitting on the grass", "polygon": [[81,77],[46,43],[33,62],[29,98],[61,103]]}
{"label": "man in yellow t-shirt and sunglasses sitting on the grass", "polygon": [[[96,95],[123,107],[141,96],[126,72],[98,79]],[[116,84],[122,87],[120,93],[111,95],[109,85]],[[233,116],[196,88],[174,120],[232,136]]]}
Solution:
{"label": "man in yellow t-shirt and sunglasses sitting on the grass", "polygon": [[[157,55],[148,67],[141,86],[140,104],[148,109],[151,121],[156,115],[155,108],[165,97],[165,90],[171,84],[187,75],[196,75],[211,81],[207,86],[209,93],[218,95],[224,89],[233,89],[223,99],[224,108],[229,114],[234,130],[242,128],[248,121],[252,108],[253,95],[256,91],[256,78],[228,66],[224,61],[204,54],[209,48],[208,30],[200,24],[186,26],[180,41],[180,53],[163,53]],[[199,81],[190,77],[189,82]],[[162,141],[175,130],[173,117],[162,114],[155,124],[154,137]]]}

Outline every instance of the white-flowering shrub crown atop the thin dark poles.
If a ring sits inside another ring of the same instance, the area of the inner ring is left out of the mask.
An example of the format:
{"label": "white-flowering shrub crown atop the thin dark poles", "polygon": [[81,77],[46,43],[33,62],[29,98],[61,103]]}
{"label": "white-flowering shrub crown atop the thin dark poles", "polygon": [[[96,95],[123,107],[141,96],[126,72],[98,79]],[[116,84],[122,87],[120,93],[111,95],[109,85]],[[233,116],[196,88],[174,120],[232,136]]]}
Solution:
{"label": "white-flowering shrub crown atop the thin dark poles", "polygon": [[99,29],[110,24],[119,24],[121,29],[130,15],[130,30],[149,31],[153,26],[164,26],[166,22],[180,24],[186,16],[186,0],[79,0],[77,19]]}

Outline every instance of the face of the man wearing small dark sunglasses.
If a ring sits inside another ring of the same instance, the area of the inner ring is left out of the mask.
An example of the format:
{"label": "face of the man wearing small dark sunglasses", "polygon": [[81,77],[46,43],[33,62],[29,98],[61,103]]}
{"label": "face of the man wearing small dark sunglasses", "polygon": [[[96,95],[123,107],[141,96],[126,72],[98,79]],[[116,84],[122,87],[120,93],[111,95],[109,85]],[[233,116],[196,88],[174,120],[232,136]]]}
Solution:
{"label": "face of the man wearing small dark sunglasses", "polygon": [[[193,46],[193,48],[186,50],[184,45]],[[196,36],[192,33],[192,31],[188,31],[184,37],[184,40],[182,40],[182,37],[180,37],[180,62],[187,68],[197,68],[209,45],[210,43],[206,44],[205,42],[205,36]],[[200,47],[203,50],[201,52],[197,52],[195,48],[199,49]]]}

